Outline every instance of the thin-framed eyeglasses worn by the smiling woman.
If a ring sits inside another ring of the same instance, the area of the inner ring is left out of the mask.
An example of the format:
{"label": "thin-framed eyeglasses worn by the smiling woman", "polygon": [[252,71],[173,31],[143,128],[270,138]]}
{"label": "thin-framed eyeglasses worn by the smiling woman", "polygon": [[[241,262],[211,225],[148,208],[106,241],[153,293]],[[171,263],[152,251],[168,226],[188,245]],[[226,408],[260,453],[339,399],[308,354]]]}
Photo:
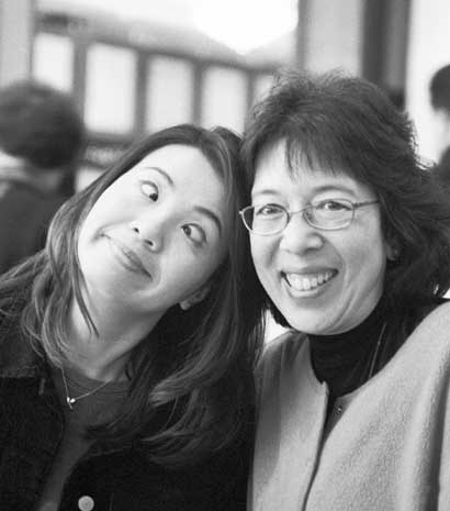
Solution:
{"label": "thin-framed eyeglasses worn by the smiling woman", "polygon": [[299,211],[288,211],[280,204],[258,204],[244,208],[239,214],[244,225],[251,233],[261,236],[281,233],[291,218],[297,213],[302,213],[312,227],[320,231],[338,231],[350,225],[355,218],[355,210],[378,202],[378,200],[352,202],[347,199],[326,199]]}

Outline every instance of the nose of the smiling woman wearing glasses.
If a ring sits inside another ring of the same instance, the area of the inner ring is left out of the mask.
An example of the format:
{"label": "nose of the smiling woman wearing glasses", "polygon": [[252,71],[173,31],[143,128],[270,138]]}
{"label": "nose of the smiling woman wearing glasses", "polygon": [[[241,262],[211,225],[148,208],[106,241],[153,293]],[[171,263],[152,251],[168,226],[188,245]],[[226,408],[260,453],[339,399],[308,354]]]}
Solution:
{"label": "nose of the smiling woman wearing glasses", "polygon": [[291,216],[280,236],[280,248],[294,254],[317,251],[325,243],[322,232],[311,226],[302,212]]}

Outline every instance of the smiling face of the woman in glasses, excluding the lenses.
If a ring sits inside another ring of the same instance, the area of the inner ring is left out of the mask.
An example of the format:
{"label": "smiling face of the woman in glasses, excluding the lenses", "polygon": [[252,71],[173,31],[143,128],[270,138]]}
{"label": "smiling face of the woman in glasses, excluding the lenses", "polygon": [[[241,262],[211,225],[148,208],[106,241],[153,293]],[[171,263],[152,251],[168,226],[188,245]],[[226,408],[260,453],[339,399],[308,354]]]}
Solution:
{"label": "smiling face of the woman in glasses, excluding the lenses", "polygon": [[[375,200],[373,191],[346,174],[311,170],[295,174],[285,162],[284,143],[257,162],[252,203],[277,203],[288,211],[326,199]],[[267,293],[296,330],[312,334],[346,332],[363,321],[383,291],[390,248],[381,229],[380,208],[355,211],[338,231],[308,225],[302,214],[279,234],[250,235],[251,253]]]}

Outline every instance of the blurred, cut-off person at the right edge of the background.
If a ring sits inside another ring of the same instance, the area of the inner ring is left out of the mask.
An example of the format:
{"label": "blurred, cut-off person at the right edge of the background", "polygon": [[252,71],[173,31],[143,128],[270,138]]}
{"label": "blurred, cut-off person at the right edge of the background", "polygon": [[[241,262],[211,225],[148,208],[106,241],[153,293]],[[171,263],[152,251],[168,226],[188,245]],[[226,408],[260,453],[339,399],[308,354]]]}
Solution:
{"label": "blurred, cut-off person at the right edge of the background", "polygon": [[450,186],[450,65],[439,68],[429,84],[434,111],[438,163],[434,174],[447,187]]}

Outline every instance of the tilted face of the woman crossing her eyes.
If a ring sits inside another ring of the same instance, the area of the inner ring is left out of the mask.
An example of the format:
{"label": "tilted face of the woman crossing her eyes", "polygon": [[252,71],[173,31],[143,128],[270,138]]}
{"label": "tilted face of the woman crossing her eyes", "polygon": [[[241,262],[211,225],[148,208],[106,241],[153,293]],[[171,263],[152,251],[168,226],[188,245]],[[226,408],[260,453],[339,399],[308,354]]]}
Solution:
{"label": "tilted face of the woman crossing her eyes", "polygon": [[98,199],[78,255],[89,295],[164,314],[203,298],[226,252],[225,189],[194,147],[168,145],[143,158]]}

